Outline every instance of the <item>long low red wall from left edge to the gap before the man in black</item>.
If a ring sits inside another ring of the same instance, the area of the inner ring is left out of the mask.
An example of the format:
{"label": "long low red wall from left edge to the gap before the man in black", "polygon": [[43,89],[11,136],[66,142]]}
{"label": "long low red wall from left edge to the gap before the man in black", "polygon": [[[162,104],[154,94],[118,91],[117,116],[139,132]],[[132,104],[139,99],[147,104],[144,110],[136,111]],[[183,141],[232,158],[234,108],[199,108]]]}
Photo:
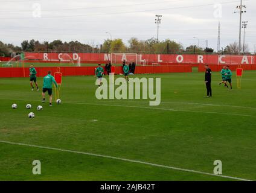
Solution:
{"label": "long low red wall from left edge to the gap before the man in black", "polygon": [[[60,67],[63,76],[94,75],[95,66],[85,67]],[[29,77],[29,68],[0,68],[0,77]],[[57,71],[57,67],[36,67],[37,77],[44,77],[48,71],[52,74]],[[155,74],[170,72],[192,72],[192,65],[182,66],[136,66],[135,74]],[[115,74],[123,73],[122,66],[117,66]]]}

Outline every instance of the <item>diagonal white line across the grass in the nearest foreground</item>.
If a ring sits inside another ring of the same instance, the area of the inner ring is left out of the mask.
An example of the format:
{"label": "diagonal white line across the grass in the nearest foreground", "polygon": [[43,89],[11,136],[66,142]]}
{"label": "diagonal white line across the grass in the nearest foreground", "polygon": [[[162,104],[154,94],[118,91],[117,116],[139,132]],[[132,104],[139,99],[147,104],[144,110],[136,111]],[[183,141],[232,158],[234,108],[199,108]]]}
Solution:
{"label": "diagonal white line across the grass in the nearest foreground", "polygon": [[0,142],[3,143],[3,144],[22,145],[22,146],[36,147],[36,148],[41,148],[41,149],[46,149],[46,150],[56,150],[56,151],[64,151],[64,152],[69,152],[69,153],[85,154],[85,155],[88,155],[88,156],[105,157],[105,158],[109,158],[109,159],[122,160],[122,161],[125,161],[125,162],[141,163],[141,164],[144,164],[144,165],[151,165],[151,166],[156,166],[156,167],[160,167],[160,168],[168,168],[168,169],[192,172],[192,173],[197,173],[197,174],[205,174],[205,175],[208,175],[208,176],[223,177],[223,178],[226,178],[226,179],[252,181],[252,180],[248,180],[248,179],[242,179],[242,178],[239,178],[239,177],[222,176],[222,175],[211,174],[211,173],[208,173],[208,172],[196,171],[196,170],[193,170],[193,169],[176,168],[176,167],[173,167],[173,166],[159,165],[159,164],[156,164],[156,163],[142,162],[142,161],[139,161],[139,160],[131,160],[131,159],[125,159],[125,158],[121,158],[121,157],[105,156],[105,155],[101,155],[101,154],[87,153],[87,152],[83,152],[83,151],[64,150],[64,149],[54,148],[54,147],[45,147],[45,146],[40,146],[40,145],[22,144],[22,143],[15,143],[15,142],[9,142],[9,141],[0,141]]}

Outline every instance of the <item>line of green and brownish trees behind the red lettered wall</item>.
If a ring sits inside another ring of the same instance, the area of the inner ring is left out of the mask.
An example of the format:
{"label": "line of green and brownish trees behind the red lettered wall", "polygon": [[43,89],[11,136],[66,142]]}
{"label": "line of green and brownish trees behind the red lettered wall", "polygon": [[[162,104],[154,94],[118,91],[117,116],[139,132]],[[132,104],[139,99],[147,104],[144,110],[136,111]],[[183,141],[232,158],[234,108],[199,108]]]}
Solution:
{"label": "line of green and brownish trees behind the red lettered wall", "polygon": [[[148,40],[139,40],[136,37],[129,39],[127,45],[122,39],[106,39],[101,45],[89,45],[78,41],[62,42],[54,40],[53,42],[39,42],[38,40],[24,40],[21,46],[14,46],[10,43],[0,41],[0,56],[11,56],[12,53],[20,52],[136,52],[144,54],[214,54],[217,53],[213,48],[198,48],[196,45],[190,45],[184,48],[181,43],[170,39],[158,42],[152,38]],[[238,54],[238,43],[230,43],[223,49],[223,54]],[[248,45],[245,45],[245,52],[248,52]]]}

